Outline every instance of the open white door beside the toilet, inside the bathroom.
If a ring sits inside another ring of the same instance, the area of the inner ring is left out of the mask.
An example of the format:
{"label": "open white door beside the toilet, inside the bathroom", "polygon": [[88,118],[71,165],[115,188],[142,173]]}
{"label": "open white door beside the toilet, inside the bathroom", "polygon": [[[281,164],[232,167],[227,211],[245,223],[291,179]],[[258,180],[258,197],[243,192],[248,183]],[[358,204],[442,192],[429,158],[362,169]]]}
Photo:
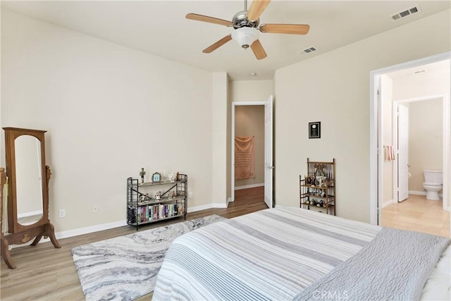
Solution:
{"label": "open white door beside the toilet, inside the bathroom", "polygon": [[397,201],[409,197],[409,107],[399,104],[397,118]]}

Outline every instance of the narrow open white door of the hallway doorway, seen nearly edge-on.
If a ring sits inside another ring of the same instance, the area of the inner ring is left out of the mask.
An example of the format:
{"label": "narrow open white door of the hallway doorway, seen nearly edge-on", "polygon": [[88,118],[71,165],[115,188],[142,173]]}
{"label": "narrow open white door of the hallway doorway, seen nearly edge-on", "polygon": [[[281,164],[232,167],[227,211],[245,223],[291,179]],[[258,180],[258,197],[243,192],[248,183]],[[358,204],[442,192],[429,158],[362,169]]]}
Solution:
{"label": "narrow open white door of the hallway doorway, seen nearly edge-on", "polygon": [[273,207],[273,95],[265,103],[265,203]]}

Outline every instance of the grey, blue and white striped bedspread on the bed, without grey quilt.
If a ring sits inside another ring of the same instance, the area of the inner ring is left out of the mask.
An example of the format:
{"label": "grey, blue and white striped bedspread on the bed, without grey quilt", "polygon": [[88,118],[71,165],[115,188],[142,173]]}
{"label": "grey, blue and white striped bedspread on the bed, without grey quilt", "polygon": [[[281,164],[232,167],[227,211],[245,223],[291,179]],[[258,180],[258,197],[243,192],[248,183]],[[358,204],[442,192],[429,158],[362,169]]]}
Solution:
{"label": "grey, blue and white striped bedspread on the bed, without grey quilt", "polygon": [[214,223],[174,240],[152,300],[292,300],[379,231],[299,208]]}

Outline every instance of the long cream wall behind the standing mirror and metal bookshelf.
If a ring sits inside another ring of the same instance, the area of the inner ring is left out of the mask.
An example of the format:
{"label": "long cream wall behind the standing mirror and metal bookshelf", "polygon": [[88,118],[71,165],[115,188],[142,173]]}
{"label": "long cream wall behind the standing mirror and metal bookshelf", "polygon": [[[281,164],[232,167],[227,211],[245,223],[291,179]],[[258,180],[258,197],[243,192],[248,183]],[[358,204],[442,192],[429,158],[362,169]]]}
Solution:
{"label": "long cream wall behind the standing mirror and metal bookshelf", "polygon": [[125,180],[142,167],[147,180],[155,171],[187,173],[189,207],[211,204],[212,186],[226,185],[212,181],[211,164],[213,86],[226,87],[216,97],[226,109],[223,75],[4,8],[1,46],[1,126],[48,131],[57,232],[125,222]]}

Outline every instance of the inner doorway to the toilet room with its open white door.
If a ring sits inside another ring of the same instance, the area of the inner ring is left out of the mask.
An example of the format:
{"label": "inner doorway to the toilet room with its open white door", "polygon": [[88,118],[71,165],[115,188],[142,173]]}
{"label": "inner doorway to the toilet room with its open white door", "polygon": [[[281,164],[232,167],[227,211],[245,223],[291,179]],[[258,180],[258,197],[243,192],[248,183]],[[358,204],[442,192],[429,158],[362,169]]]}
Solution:
{"label": "inner doorway to the toilet room with its open white door", "polygon": [[393,202],[409,195],[425,196],[423,171],[443,171],[445,98],[431,95],[393,101],[393,145],[398,149],[393,158]]}

